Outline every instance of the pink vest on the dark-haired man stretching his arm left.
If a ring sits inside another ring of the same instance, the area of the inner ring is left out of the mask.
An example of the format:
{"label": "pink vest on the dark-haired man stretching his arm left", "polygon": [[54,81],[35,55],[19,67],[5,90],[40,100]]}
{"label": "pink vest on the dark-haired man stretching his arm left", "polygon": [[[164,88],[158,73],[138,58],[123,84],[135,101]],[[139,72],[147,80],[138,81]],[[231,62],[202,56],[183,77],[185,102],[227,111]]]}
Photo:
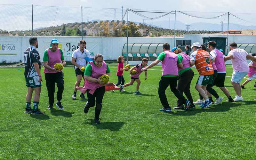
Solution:
{"label": "pink vest on the dark-haired man stretching his arm left", "polygon": [[178,56],[170,51],[164,51],[165,52],[165,57],[164,60],[162,61],[162,69],[163,73],[162,76],[164,75],[179,75],[178,72]]}

